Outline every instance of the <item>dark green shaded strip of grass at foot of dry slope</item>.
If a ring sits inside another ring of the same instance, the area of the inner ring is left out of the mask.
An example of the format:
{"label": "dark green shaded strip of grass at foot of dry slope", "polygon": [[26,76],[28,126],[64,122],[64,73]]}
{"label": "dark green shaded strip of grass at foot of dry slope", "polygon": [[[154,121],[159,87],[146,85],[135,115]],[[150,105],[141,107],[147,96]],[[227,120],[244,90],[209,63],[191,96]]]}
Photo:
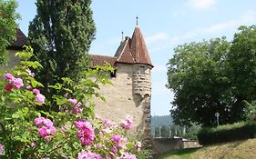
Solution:
{"label": "dark green shaded strip of grass at foot of dry slope", "polygon": [[179,155],[180,159],[183,159],[183,158],[185,159],[185,158],[189,158],[189,155],[196,152],[198,149],[200,148],[186,148],[186,149],[172,150],[167,153],[155,155],[154,159],[170,158],[171,155]]}

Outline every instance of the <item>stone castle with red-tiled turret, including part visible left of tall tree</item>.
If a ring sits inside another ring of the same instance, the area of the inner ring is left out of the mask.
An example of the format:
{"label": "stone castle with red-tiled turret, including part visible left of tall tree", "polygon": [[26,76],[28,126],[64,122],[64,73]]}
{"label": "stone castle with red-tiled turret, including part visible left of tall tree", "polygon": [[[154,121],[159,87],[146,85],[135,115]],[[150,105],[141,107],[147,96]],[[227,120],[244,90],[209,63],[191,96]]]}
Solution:
{"label": "stone castle with red-tiled turret, including part visible left of tall tree", "polygon": [[[17,40],[9,49],[10,66],[16,65],[15,52],[26,45],[26,36],[18,29]],[[127,114],[134,117],[133,131],[144,138],[150,137],[150,98],[152,62],[143,35],[138,26],[132,37],[121,41],[112,56],[90,55],[93,65],[108,62],[115,68],[109,75],[113,85],[101,86],[106,103],[95,99],[96,114],[119,123]]]}

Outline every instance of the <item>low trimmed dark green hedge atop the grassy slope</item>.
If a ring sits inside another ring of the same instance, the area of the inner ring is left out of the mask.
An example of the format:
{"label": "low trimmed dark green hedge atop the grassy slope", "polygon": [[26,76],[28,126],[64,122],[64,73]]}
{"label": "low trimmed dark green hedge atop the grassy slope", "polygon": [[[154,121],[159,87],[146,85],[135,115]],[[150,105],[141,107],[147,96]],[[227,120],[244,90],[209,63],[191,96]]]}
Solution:
{"label": "low trimmed dark green hedge atop the grassy slope", "polygon": [[217,127],[204,127],[200,130],[198,138],[200,144],[216,144],[256,137],[255,122],[241,122],[236,124],[223,124]]}

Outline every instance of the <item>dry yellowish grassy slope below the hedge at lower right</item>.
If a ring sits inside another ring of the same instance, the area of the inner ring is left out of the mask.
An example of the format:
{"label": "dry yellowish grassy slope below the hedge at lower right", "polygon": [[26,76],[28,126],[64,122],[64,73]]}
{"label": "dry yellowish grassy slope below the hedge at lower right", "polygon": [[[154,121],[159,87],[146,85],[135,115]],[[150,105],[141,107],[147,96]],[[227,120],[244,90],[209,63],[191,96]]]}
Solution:
{"label": "dry yellowish grassy slope below the hedge at lower right", "polygon": [[199,149],[185,149],[161,154],[156,159],[254,159],[256,139],[214,144]]}

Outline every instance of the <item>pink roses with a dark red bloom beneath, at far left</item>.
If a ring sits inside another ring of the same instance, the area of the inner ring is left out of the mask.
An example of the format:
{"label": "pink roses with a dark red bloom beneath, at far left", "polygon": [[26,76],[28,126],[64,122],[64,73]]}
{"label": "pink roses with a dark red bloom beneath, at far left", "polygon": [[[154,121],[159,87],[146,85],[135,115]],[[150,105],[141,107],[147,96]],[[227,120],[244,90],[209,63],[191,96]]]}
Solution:
{"label": "pink roses with a dark red bloom beneath, at far left", "polygon": [[19,89],[24,85],[21,78],[15,78],[14,75],[10,73],[5,74],[5,79],[9,82],[9,84],[5,86],[5,91],[11,91],[13,86],[15,89]]}

